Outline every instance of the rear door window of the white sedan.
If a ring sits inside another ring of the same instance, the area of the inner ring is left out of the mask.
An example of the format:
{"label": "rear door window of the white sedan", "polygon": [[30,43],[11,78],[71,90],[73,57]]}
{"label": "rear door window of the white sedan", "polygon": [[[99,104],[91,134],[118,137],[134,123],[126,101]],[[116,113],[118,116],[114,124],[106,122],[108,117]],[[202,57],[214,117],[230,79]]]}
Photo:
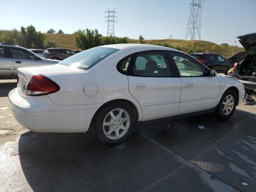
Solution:
{"label": "rear door window of the white sedan", "polygon": [[172,72],[162,51],[139,53],[132,65],[132,75],[145,77],[170,77]]}

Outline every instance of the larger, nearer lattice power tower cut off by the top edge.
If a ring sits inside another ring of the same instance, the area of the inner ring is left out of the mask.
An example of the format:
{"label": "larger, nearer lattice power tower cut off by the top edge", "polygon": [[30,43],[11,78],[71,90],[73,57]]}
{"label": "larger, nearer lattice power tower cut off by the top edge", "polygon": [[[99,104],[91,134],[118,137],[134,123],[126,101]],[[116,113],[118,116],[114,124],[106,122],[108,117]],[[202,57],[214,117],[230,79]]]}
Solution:
{"label": "larger, nearer lattice power tower cut off by the top edge", "polygon": [[202,0],[192,0],[190,4],[190,15],[185,40],[188,38],[188,35],[190,35],[191,40],[195,40],[196,36],[201,40],[201,10],[203,10],[201,2]]}

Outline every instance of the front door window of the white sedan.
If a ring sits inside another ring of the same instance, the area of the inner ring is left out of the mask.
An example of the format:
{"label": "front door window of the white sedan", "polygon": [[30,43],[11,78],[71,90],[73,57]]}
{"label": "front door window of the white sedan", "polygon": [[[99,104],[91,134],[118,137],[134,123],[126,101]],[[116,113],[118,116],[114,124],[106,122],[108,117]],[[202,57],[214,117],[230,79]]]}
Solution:
{"label": "front door window of the white sedan", "polygon": [[[198,61],[194,60],[191,56],[188,56],[179,52],[169,52],[173,58],[176,66],[178,67],[180,76],[182,77],[203,77],[206,75],[205,67]],[[175,58],[179,57],[180,60]]]}

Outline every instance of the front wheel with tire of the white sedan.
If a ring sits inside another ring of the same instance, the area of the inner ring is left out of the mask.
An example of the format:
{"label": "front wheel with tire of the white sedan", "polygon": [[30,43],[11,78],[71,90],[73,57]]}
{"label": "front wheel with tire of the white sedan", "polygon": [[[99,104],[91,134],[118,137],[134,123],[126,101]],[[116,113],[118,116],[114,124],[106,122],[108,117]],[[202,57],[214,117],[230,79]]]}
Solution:
{"label": "front wheel with tire of the white sedan", "polygon": [[216,115],[222,119],[230,118],[236,109],[236,103],[236,93],[233,90],[226,90],[220,99]]}

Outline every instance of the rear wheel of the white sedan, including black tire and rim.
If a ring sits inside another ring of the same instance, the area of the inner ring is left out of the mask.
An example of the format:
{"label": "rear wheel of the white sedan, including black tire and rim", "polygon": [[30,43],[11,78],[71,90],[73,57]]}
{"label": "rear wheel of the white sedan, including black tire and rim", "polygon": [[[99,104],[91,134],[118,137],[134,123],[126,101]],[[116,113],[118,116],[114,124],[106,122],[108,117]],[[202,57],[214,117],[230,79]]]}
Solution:
{"label": "rear wheel of the white sedan, including black tire and rim", "polygon": [[105,145],[124,142],[132,134],[136,122],[133,108],[126,102],[115,102],[105,106],[94,123],[96,137]]}

